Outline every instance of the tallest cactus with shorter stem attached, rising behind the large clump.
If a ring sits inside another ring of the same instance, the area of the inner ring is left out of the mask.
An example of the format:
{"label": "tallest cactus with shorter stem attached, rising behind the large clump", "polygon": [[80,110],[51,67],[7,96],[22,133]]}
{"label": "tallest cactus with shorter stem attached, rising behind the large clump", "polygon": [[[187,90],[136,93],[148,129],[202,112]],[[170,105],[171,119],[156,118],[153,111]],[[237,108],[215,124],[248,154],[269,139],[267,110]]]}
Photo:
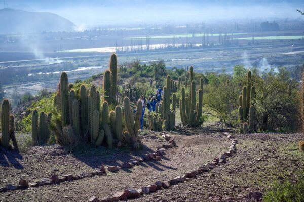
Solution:
{"label": "tallest cactus with shorter stem attached, rising behind the large clump", "polygon": [[115,105],[117,94],[117,56],[112,54],[110,57],[110,68],[104,72],[103,90],[105,100],[110,105]]}

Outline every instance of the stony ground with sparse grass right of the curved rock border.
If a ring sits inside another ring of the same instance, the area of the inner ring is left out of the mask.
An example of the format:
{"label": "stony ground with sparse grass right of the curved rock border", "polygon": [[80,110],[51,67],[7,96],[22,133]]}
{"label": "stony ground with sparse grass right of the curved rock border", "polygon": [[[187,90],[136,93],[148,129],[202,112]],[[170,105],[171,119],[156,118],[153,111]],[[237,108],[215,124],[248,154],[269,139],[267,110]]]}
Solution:
{"label": "stony ground with sparse grass right of the curved rock border", "polygon": [[274,180],[304,171],[304,155],[298,149],[302,134],[235,136],[238,152],[226,164],[134,201],[249,201],[249,192],[263,193]]}

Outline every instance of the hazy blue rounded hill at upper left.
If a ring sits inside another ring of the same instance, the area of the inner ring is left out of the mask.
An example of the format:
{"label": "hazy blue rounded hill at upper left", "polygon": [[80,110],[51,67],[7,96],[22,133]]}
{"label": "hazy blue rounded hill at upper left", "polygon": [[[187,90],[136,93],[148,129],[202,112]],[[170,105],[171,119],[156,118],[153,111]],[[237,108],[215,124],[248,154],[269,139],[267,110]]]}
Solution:
{"label": "hazy blue rounded hill at upper left", "polygon": [[0,9],[0,32],[72,31],[75,25],[54,13]]}

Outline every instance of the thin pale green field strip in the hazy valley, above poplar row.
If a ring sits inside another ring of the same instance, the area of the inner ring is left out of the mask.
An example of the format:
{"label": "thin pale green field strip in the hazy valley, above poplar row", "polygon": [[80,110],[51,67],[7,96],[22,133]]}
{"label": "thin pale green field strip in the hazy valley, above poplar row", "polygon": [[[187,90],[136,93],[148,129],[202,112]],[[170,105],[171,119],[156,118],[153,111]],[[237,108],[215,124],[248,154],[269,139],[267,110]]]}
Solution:
{"label": "thin pale green field strip in the hazy valley, above poplar row", "polygon": [[[220,34],[210,34],[210,33],[197,33],[197,34],[170,34],[170,35],[160,35],[160,36],[150,36],[149,39],[166,39],[166,38],[191,38],[191,37],[203,37],[205,35],[209,36],[219,36]],[[240,34],[246,34],[246,33],[229,33],[227,35],[240,35]],[[224,36],[225,34],[221,34]],[[146,36],[142,37],[127,37],[124,39],[145,39]]]}

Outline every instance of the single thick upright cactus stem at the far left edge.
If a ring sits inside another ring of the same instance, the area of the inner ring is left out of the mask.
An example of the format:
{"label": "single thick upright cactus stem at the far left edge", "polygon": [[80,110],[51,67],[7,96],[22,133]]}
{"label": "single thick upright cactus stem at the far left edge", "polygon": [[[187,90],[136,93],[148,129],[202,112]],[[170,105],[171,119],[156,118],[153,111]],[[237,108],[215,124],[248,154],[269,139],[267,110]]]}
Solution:
{"label": "single thick upright cactus stem at the far left edge", "polygon": [[1,145],[4,148],[9,148],[10,146],[10,132],[9,132],[9,124],[10,124],[10,102],[5,99],[2,101],[1,105]]}

